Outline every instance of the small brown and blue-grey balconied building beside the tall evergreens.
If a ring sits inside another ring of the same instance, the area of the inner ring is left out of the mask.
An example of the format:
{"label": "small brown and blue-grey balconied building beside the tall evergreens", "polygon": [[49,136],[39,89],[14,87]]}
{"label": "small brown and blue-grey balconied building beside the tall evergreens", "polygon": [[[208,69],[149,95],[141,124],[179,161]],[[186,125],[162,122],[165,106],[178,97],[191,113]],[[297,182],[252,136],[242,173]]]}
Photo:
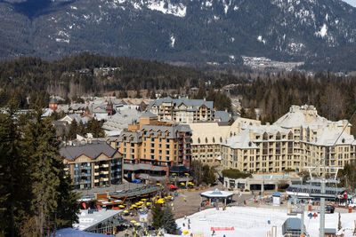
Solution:
{"label": "small brown and blue-grey balconied building beside the tall evergreens", "polygon": [[124,176],[122,154],[105,142],[63,146],[66,175],[77,189],[121,184]]}

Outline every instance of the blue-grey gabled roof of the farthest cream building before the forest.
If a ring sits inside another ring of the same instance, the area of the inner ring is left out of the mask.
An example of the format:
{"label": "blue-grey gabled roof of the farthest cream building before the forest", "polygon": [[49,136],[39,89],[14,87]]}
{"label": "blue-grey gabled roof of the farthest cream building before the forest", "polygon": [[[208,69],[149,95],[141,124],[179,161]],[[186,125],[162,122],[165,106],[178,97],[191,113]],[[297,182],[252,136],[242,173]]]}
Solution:
{"label": "blue-grey gabled roof of the farthest cream building before the forest", "polygon": [[154,101],[150,101],[150,107],[153,105],[162,105],[162,103],[173,103],[174,107],[179,107],[180,105],[184,104],[187,107],[193,107],[193,109],[201,107],[202,105],[205,105],[206,107],[210,108],[213,110],[213,101],[206,101],[204,99],[186,99],[186,98],[181,98],[181,99],[172,99],[170,97],[166,97],[163,99],[156,99]]}

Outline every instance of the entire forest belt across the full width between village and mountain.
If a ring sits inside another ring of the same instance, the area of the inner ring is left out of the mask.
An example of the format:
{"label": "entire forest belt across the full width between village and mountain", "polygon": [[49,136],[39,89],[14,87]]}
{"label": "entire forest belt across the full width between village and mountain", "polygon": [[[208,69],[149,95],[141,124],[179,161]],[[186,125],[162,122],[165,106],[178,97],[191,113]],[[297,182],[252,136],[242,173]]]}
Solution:
{"label": "entire forest belt across the full width between village and mountain", "polygon": [[[103,73],[102,67],[109,71]],[[329,120],[338,120],[349,119],[356,109],[355,80],[355,75],[331,73],[253,72],[243,68],[238,72],[199,71],[157,61],[83,53],[53,62],[20,58],[0,64],[0,107],[9,99],[20,108],[35,103],[46,107],[50,94],[69,101],[112,91],[119,91],[116,95],[121,97],[129,90],[142,96],[140,91],[146,90],[151,98],[155,91],[164,91],[165,96],[174,91],[214,100],[217,109],[230,111],[234,111],[231,98],[239,98],[246,108],[241,114],[255,118],[253,108],[259,108],[263,122],[275,122],[291,105],[303,104],[314,105]]]}

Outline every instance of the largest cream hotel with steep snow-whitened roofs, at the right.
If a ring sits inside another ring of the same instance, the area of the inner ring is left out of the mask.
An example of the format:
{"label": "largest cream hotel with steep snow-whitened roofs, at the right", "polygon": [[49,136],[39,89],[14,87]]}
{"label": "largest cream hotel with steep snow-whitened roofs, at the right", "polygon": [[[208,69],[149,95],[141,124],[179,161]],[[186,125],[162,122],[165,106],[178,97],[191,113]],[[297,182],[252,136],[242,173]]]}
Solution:
{"label": "largest cream hotel with steep snow-whitened roofs, at the right", "polygon": [[278,173],[302,171],[305,166],[343,167],[355,160],[356,141],[350,126],[345,120],[328,121],[315,107],[292,106],[273,125],[246,124],[236,136],[224,140],[223,169]]}

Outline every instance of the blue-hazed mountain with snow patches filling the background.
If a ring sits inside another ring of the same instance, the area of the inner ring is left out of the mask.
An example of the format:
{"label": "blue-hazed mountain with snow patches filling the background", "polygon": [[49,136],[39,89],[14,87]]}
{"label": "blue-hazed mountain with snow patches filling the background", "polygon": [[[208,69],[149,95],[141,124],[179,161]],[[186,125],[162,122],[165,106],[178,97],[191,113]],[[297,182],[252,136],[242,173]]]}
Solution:
{"label": "blue-hazed mountain with snow patches filling the background", "polygon": [[356,69],[342,63],[356,59],[356,9],[341,0],[0,0],[0,34],[2,59],[93,51]]}

